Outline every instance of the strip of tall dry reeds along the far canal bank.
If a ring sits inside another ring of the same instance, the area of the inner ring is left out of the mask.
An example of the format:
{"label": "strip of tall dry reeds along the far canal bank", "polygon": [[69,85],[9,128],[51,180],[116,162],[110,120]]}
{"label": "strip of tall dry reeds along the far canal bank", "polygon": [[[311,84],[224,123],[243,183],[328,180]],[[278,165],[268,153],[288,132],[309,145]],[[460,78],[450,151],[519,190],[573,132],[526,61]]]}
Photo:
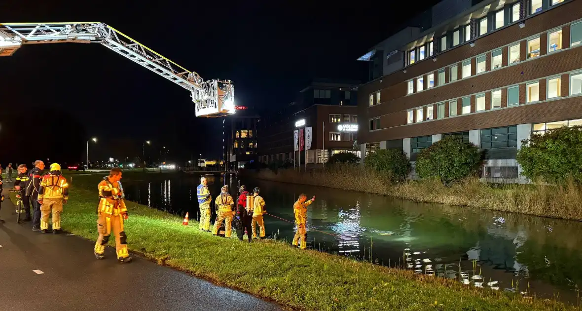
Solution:
{"label": "strip of tall dry reeds along the far canal bank", "polygon": [[386,176],[376,171],[348,165],[307,172],[279,169],[278,174],[263,169],[254,176],[270,181],[353,190],[418,202],[582,220],[582,188],[573,183],[559,186],[499,185],[482,183],[477,178],[465,179],[451,187],[439,181],[391,183]]}

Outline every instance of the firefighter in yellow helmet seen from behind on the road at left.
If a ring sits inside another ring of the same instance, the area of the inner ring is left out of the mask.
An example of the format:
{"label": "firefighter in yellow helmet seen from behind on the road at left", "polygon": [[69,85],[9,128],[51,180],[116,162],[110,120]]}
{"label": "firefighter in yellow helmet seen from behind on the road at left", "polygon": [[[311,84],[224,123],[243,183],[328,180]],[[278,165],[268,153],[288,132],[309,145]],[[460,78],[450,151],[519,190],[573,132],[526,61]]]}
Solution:
{"label": "firefighter in yellow helmet seen from behind on the road at left", "polygon": [[69,200],[69,184],[61,175],[61,165],[51,164],[48,174],[42,176],[38,188],[38,203],[40,206],[40,229],[42,233],[48,231],[48,217],[52,211],[52,233],[61,231],[61,213],[63,204]]}

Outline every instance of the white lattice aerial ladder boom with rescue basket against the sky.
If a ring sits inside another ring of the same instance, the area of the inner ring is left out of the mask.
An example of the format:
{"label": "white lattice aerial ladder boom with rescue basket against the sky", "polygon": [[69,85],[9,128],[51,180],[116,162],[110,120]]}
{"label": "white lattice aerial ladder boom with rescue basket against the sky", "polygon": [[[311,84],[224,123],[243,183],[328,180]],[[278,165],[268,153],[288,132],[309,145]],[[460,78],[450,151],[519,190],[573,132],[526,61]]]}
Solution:
{"label": "white lattice aerial ladder boom with rescue basket against the sky", "polygon": [[235,113],[230,80],[204,81],[113,27],[99,22],[0,23],[0,56],[12,56],[22,45],[44,43],[99,43],[125,58],[190,91],[196,116]]}

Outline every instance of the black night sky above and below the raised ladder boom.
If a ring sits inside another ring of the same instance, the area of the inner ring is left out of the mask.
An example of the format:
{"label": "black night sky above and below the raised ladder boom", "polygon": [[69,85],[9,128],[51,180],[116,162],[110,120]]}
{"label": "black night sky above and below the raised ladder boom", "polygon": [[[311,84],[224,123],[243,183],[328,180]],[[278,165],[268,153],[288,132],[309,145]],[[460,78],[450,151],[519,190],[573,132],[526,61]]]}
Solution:
{"label": "black night sky above and below the raised ladder boom", "polygon": [[[111,24],[204,79],[233,80],[236,103],[259,113],[313,77],[365,80],[355,59],[413,15],[368,0],[1,2],[0,22]],[[3,167],[83,161],[93,136],[91,161],[139,156],[144,140],[180,163],[222,150],[222,119],[196,118],[188,91],[99,44],[25,46],[0,58],[0,80]]]}

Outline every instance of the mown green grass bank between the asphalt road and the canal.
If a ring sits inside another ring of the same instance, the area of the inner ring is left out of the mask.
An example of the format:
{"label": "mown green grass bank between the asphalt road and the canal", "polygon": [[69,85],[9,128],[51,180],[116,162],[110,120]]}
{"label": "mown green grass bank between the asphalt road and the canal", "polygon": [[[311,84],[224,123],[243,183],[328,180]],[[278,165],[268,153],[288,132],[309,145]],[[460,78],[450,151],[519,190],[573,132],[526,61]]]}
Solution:
{"label": "mown green grass bank between the asphalt road and the canal", "polygon": [[[63,228],[97,238],[100,175],[76,175]],[[125,176],[127,179],[142,179]],[[241,243],[198,231],[197,222],[128,202],[130,249],[152,260],[301,310],[567,310],[562,303],[523,299],[489,289],[380,267],[277,241]],[[111,239],[113,240],[113,239]],[[112,242],[112,241],[110,241]],[[112,245],[112,243],[111,243]],[[90,248],[91,246],[88,246]],[[92,256],[91,249],[86,255]],[[108,258],[106,260],[114,260]],[[218,298],[218,297],[217,297]]]}

